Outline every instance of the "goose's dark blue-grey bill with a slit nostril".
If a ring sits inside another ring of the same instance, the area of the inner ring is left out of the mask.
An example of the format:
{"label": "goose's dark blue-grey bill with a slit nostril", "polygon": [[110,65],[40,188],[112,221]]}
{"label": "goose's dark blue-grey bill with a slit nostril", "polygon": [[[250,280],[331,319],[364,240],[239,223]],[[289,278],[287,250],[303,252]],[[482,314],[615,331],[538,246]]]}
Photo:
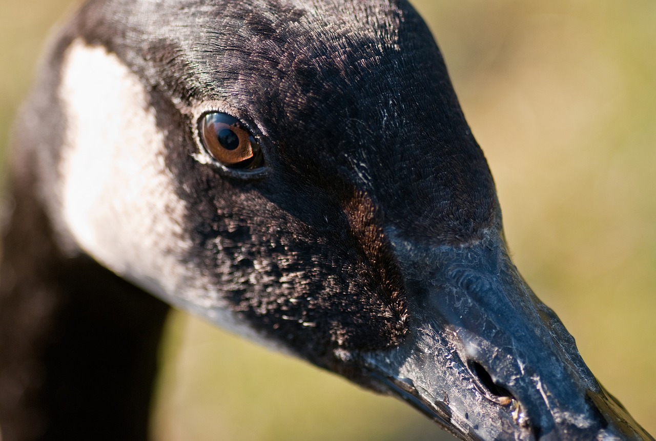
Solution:
{"label": "goose's dark blue-grey bill with a slit nostril", "polygon": [[409,333],[360,361],[379,390],[463,440],[652,440],[596,381],[504,242],[392,246]]}

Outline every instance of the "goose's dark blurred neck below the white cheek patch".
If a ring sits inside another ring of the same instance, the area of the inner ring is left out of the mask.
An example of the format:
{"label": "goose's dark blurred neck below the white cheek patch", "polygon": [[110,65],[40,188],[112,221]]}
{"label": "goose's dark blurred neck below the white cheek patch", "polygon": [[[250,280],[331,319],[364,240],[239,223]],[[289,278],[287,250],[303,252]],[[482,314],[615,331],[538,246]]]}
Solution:
{"label": "goose's dark blurred neck below the white cheek patch", "polygon": [[62,252],[26,175],[2,238],[2,438],[145,440],[169,306]]}

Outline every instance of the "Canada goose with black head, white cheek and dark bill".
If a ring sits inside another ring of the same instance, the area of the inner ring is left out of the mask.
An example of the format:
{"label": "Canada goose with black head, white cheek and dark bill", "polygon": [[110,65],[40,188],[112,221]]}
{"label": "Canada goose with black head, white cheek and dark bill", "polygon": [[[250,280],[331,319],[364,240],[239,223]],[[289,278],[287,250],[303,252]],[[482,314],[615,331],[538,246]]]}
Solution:
{"label": "Canada goose with black head, white cheek and dark bill", "polygon": [[512,265],[416,12],[297,3],[92,1],[54,40],[16,131],[3,431],[144,436],[152,293],[462,439],[651,439]]}

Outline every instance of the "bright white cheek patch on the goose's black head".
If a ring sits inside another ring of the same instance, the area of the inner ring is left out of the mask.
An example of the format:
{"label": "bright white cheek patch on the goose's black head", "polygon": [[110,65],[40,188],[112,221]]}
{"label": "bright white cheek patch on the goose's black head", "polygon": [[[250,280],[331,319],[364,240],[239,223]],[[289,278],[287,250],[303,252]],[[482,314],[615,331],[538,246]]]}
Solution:
{"label": "bright white cheek patch on the goose's black head", "polygon": [[59,190],[81,249],[168,303],[261,340],[230,312],[220,287],[183,260],[193,246],[187,207],[138,77],[115,54],[74,41],[59,97],[66,115]]}

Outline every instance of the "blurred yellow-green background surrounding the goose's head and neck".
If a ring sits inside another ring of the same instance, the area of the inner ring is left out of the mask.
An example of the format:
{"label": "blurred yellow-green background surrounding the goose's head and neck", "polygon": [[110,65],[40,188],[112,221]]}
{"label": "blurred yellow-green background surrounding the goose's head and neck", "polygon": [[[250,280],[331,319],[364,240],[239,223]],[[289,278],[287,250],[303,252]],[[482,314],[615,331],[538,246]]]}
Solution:
{"label": "blurred yellow-green background surrounding the goose's head and neck", "polygon": [[[0,148],[70,0],[0,2]],[[416,0],[489,160],[516,264],[656,434],[656,2]],[[434,440],[391,398],[176,314],[157,440]],[[445,437],[447,439],[447,437]]]}

